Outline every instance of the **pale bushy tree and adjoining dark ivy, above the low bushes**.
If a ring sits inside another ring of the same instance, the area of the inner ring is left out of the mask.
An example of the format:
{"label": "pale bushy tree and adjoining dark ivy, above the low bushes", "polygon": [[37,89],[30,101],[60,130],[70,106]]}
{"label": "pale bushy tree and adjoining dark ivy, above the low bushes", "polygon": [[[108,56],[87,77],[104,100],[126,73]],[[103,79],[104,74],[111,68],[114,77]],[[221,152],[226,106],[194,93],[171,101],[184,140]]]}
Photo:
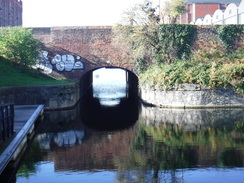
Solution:
{"label": "pale bushy tree and adjoining dark ivy, above the low bushes", "polygon": [[[167,16],[171,23],[185,11],[184,1],[172,0],[169,4]],[[125,13],[124,21],[113,28],[114,43],[127,50],[132,55],[138,72],[150,65],[167,62],[188,55],[192,39],[191,25],[164,24],[161,25],[161,15],[158,7],[146,0],[136,4]],[[187,41],[189,40],[189,42]]]}

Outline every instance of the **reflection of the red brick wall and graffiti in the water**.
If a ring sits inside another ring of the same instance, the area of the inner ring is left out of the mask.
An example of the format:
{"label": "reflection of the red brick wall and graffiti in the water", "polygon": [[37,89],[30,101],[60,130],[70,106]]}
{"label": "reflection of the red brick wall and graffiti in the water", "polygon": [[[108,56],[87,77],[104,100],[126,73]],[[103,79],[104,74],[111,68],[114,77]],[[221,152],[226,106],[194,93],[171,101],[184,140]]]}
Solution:
{"label": "reflection of the red brick wall and graffiti in the water", "polygon": [[[79,107],[76,108],[76,111],[79,110]],[[87,128],[80,118],[64,123],[61,115],[71,111],[73,114],[78,114],[74,110],[45,113],[46,119],[52,119],[53,116],[59,116],[59,118],[55,119],[55,122],[46,120],[39,126],[19,176],[32,176],[27,172],[23,173],[27,167],[31,173],[38,173],[38,168],[33,170],[35,167],[33,165],[38,167],[39,163],[41,163],[40,166],[44,166],[48,162],[53,162],[55,172],[96,172],[100,169],[114,170],[118,159],[126,159],[133,142],[135,127],[124,131],[104,132]],[[47,128],[50,124],[51,128]]]}

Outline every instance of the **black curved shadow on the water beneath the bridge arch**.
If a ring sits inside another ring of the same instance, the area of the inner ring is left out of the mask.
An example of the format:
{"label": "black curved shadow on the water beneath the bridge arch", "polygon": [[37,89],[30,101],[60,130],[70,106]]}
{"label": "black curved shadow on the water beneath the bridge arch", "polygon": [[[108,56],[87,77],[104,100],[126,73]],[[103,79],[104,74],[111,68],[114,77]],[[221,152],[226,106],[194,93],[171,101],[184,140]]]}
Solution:
{"label": "black curved shadow on the water beneath the bridge arch", "polygon": [[117,106],[107,107],[99,99],[91,97],[91,91],[82,98],[81,118],[88,127],[97,130],[113,131],[133,126],[138,120],[138,96],[130,93]]}

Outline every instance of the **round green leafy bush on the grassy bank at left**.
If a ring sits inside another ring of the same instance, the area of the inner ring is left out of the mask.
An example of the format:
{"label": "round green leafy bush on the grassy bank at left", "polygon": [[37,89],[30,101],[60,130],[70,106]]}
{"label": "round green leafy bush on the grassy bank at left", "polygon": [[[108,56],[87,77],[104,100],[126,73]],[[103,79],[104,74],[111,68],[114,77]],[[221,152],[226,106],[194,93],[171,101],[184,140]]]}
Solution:
{"label": "round green leafy bush on the grassy bank at left", "polygon": [[20,64],[32,65],[39,55],[40,42],[32,30],[21,27],[0,29],[0,56]]}

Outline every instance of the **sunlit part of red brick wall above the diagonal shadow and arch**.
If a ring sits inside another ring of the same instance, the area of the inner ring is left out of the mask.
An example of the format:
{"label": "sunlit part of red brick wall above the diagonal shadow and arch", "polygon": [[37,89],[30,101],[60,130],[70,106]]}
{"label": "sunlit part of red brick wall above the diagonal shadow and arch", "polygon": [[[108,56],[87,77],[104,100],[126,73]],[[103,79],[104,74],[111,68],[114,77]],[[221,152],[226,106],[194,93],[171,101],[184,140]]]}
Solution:
{"label": "sunlit part of red brick wall above the diagonal shadow and arch", "polygon": [[130,68],[131,59],[112,44],[111,26],[53,27],[51,42],[55,47],[79,55],[99,65]]}

